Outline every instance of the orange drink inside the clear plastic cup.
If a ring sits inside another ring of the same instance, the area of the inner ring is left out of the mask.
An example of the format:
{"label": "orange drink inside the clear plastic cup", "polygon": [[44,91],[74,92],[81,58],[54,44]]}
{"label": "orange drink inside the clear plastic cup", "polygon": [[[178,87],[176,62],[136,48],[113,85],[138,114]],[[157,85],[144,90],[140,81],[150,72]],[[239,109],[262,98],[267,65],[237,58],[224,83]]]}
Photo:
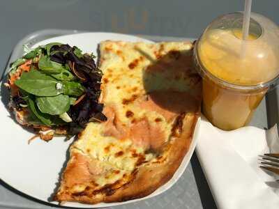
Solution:
{"label": "orange drink inside the clear plastic cup", "polygon": [[254,86],[278,75],[278,60],[270,45],[253,34],[245,41],[241,38],[240,29],[212,29],[197,45],[199,63],[211,75],[203,78],[203,112],[223,130],[247,125],[267,88],[239,91],[222,82]]}

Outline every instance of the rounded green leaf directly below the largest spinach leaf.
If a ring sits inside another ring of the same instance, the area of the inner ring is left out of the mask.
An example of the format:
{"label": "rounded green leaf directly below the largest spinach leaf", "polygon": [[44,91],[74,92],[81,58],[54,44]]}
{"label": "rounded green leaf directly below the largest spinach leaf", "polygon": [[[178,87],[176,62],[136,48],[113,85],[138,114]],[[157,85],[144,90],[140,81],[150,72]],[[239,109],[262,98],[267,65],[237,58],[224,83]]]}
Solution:
{"label": "rounded green leaf directly below the largest spinach leaf", "polygon": [[69,96],[63,94],[54,97],[37,97],[36,104],[41,112],[52,116],[63,114],[70,109]]}

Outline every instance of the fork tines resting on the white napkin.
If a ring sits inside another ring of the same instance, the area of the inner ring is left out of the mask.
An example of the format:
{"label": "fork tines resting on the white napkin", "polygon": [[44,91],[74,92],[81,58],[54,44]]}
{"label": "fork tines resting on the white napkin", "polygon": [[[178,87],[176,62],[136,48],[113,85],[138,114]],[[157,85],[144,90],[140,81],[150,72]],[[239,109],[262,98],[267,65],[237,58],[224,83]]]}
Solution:
{"label": "fork tines resting on the white napkin", "polygon": [[260,168],[279,175],[279,153],[264,154],[259,155],[259,157],[261,157],[259,160],[262,164],[259,166]]}

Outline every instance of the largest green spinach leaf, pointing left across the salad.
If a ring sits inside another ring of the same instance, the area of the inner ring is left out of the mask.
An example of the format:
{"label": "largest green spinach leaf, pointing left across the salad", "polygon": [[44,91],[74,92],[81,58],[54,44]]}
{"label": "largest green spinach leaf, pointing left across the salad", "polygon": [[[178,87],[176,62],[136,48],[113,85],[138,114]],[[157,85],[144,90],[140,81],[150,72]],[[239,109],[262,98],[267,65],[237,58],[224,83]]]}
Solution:
{"label": "largest green spinach leaf, pointing left across the salad", "polygon": [[58,81],[49,75],[45,75],[38,70],[23,72],[20,79],[15,81],[15,85],[22,88],[27,93],[38,96],[54,96],[61,93],[61,89],[56,88]]}

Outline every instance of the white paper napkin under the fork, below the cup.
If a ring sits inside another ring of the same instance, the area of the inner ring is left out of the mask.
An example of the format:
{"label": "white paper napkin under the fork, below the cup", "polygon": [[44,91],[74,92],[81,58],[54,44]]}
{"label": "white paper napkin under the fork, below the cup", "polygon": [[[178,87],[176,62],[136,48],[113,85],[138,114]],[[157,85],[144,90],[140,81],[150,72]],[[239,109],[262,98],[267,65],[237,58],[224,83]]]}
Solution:
{"label": "white paper napkin under the fork, below the cup", "polygon": [[270,151],[279,151],[277,127],[226,132],[202,117],[197,156],[218,208],[279,208],[276,175],[259,169],[257,163],[258,155]]}

